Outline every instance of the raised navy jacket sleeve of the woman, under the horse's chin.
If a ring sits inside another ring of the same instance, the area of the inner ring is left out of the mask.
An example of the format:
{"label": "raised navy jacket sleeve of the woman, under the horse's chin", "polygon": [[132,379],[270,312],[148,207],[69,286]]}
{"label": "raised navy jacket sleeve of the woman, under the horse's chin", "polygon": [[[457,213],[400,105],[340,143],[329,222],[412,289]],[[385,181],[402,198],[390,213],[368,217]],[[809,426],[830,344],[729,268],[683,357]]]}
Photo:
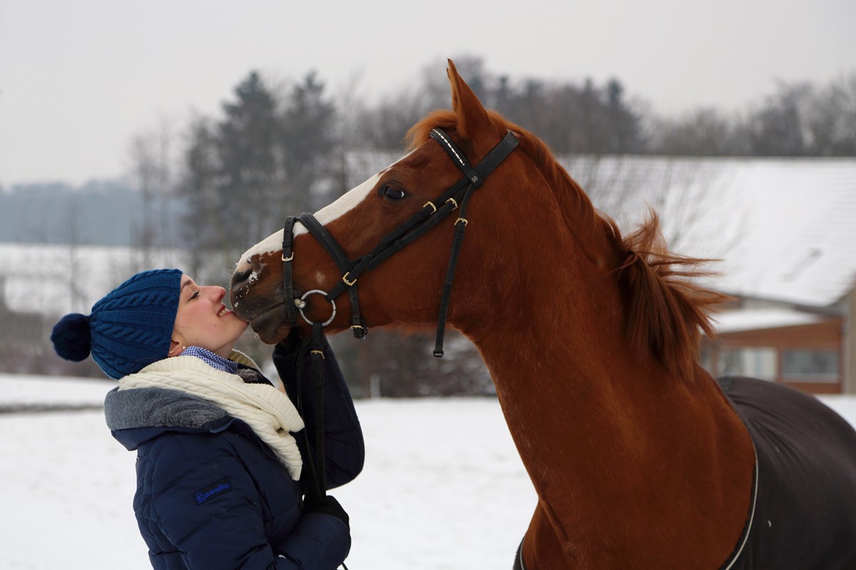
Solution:
{"label": "raised navy jacket sleeve of the woman, under the horse's chin", "polygon": [[[296,332],[294,333],[296,334]],[[315,399],[312,386],[312,359],[308,343],[292,336],[277,344],[273,351],[276,371],[285,391],[306,424],[309,446],[315,448]],[[300,453],[306,456],[304,438],[296,438]],[[324,338],[324,457],[327,489],[353,480],[363,468],[366,447],[354,401],[336,361],[336,355]],[[315,455],[312,455],[313,457]]]}

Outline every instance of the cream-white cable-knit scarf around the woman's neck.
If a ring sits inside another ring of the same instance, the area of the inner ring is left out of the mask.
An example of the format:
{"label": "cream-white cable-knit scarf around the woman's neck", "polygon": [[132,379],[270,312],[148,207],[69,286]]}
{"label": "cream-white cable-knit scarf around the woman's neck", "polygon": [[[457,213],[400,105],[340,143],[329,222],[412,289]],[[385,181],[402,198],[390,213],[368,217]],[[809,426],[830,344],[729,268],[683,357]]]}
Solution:
{"label": "cream-white cable-knit scarf around the woman's neck", "polygon": [[[241,353],[234,352],[233,356],[244,358],[231,360],[249,360]],[[300,432],[303,420],[288,396],[272,385],[247,384],[237,374],[217,370],[196,356],[173,356],[119,379],[120,391],[133,388],[180,390],[216,404],[247,423],[276,453],[291,478],[300,479],[303,462],[289,432]]]}

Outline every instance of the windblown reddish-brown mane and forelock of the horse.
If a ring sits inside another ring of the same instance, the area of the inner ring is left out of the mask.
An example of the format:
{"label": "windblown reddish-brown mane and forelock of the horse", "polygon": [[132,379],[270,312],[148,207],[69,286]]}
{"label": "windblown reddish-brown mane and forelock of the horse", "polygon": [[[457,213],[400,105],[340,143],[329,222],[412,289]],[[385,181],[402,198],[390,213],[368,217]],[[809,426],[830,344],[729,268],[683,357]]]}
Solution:
{"label": "windblown reddish-brown mane and forelock of the horse", "polygon": [[[701,331],[710,336],[714,333],[710,310],[728,299],[691,281],[710,275],[700,266],[711,260],[669,252],[654,212],[636,232],[622,238],[615,221],[594,208],[586,192],[556,162],[544,141],[498,113],[489,114],[502,130],[507,128],[518,135],[518,148],[550,183],[570,231],[588,238],[581,239],[583,243],[593,240],[598,250],[615,252],[619,260],[615,273],[627,308],[631,344],[650,350],[675,377],[693,378]],[[454,132],[456,125],[452,111],[434,111],[407,132],[408,148],[424,143],[434,127]]]}

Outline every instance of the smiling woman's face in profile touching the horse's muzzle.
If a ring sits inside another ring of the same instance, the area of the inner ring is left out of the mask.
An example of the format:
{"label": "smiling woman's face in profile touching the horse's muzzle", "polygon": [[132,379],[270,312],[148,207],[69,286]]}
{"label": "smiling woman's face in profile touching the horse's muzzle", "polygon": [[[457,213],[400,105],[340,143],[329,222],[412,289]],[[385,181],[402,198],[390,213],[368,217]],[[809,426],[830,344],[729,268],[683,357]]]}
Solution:
{"label": "smiling woman's face in profile touching the horse's muzzle", "polygon": [[169,356],[181,354],[188,346],[199,346],[229,357],[235,341],[247,329],[248,323],[239,319],[223,304],[226,290],[217,285],[196,285],[187,275],[181,275],[181,293]]}

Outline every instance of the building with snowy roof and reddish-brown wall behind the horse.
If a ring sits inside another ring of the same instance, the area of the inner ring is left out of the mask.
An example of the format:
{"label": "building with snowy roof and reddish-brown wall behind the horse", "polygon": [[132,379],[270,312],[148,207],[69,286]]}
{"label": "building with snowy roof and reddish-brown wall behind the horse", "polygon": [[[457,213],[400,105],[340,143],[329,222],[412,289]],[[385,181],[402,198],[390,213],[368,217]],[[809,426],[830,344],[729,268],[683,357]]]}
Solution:
{"label": "building with snowy roof and reddish-brown wall behind the horse", "polygon": [[856,393],[856,159],[563,162],[625,232],[650,206],[670,250],[722,260],[711,373]]}

